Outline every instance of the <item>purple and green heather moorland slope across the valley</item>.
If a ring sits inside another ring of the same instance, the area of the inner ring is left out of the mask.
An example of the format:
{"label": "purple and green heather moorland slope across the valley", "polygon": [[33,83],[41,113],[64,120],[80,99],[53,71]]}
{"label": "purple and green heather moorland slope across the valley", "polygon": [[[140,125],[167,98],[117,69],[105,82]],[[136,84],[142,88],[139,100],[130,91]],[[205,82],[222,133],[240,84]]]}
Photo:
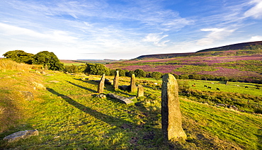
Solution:
{"label": "purple and green heather moorland slope across the valley", "polygon": [[110,69],[142,69],[181,75],[181,79],[246,81],[262,80],[262,42],[247,42],[192,53],[152,54],[106,64]]}

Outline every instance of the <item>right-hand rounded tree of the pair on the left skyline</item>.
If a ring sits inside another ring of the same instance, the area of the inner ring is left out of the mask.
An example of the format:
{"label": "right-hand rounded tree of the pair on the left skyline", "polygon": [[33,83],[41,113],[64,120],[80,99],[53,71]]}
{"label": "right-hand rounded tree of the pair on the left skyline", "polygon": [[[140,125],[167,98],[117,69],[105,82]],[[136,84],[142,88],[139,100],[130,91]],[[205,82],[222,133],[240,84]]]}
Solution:
{"label": "right-hand rounded tree of the pair on the left skyline", "polygon": [[59,61],[53,52],[38,52],[34,56],[33,64],[46,64],[50,70],[64,71],[64,64]]}

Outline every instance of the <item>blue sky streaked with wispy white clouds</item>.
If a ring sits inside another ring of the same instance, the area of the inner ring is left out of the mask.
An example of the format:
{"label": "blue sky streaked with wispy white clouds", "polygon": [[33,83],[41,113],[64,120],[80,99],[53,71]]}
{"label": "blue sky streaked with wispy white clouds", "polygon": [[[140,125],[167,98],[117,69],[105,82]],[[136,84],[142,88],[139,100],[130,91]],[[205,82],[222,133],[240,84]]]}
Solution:
{"label": "blue sky streaked with wispy white clouds", "polygon": [[0,55],[132,59],[262,40],[262,0],[1,0]]}

